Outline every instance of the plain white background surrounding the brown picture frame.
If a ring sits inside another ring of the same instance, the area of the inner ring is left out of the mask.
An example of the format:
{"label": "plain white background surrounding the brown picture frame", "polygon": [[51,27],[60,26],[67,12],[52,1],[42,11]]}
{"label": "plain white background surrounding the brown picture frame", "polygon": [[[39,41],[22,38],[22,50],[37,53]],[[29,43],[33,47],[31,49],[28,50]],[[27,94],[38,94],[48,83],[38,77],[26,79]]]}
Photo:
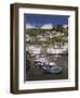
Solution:
{"label": "plain white background surrounding the brown picture frame", "polygon": [[[80,0],[0,0],[0,98],[43,98],[43,97],[44,98],[64,98],[64,97],[80,98],[80,86],[78,91],[62,91],[62,93],[45,93],[45,94],[43,93],[43,94],[28,94],[28,95],[10,94],[9,91],[10,90],[10,3],[13,2],[78,5],[80,11]],[[80,13],[79,13],[79,17],[80,17]]]}

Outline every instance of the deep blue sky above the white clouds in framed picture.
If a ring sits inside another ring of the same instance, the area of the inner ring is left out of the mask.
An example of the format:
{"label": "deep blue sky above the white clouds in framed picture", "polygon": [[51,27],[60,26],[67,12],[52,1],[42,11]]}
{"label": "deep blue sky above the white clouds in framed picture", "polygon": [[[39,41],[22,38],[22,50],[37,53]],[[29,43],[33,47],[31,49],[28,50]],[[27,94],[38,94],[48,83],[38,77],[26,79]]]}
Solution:
{"label": "deep blue sky above the white clouds in framed picture", "polygon": [[51,15],[25,15],[26,16],[26,24],[29,23],[36,27],[41,27],[44,24],[52,24],[55,25],[68,25],[68,16],[51,16]]}

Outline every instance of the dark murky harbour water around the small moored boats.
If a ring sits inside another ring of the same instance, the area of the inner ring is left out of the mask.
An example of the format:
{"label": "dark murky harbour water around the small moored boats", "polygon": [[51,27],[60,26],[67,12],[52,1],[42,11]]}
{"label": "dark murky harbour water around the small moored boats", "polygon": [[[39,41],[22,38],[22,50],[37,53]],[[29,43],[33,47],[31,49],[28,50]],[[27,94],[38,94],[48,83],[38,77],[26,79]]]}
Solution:
{"label": "dark murky harbour water around the small moored boats", "polygon": [[58,74],[49,74],[42,72],[36,66],[34,62],[34,57],[31,58],[31,64],[28,71],[26,71],[26,81],[42,81],[42,79],[66,79],[68,78],[68,56],[49,56],[50,61],[56,63],[56,65],[63,68],[63,72]]}

